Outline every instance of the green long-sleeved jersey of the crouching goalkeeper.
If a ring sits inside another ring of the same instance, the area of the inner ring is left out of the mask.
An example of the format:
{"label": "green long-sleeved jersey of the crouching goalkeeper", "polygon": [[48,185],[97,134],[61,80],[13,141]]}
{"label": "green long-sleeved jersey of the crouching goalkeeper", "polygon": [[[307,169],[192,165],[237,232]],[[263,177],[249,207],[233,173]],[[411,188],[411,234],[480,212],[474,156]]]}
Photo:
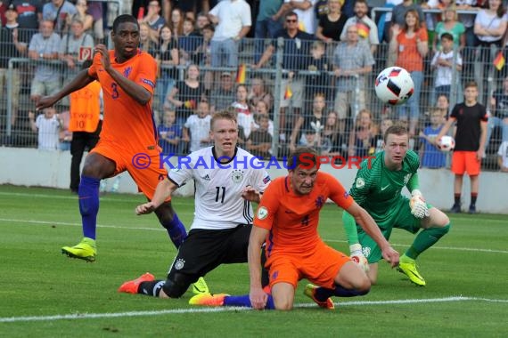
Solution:
{"label": "green long-sleeved jersey of the crouching goalkeeper", "polygon": [[[373,216],[380,228],[381,224],[393,218],[399,212],[399,202],[403,197],[402,189],[406,186],[409,191],[418,189],[417,170],[420,166],[418,155],[413,150],[408,150],[402,169],[389,170],[384,164],[384,151],[376,154],[375,158],[366,159],[360,165],[356,173],[349,194],[358,205]],[[414,178],[414,180],[411,180]],[[381,223],[381,224],[380,224]]]}

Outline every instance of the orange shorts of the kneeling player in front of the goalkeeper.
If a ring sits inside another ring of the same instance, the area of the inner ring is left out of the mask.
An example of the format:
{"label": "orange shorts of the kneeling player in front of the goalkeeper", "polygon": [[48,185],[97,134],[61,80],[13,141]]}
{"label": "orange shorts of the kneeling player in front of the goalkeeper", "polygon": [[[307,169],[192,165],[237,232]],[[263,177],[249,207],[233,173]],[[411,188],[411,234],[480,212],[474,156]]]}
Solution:
{"label": "orange shorts of the kneeling player in front of the goalkeeper", "polygon": [[307,278],[317,286],[333,288],[334,279],[346,262],[351,260],[346,254],[324,243],[315,246],[305,254],[274,253],[266,262],[270,273],[270,286],[289,283],[295,289],[300,279]]}

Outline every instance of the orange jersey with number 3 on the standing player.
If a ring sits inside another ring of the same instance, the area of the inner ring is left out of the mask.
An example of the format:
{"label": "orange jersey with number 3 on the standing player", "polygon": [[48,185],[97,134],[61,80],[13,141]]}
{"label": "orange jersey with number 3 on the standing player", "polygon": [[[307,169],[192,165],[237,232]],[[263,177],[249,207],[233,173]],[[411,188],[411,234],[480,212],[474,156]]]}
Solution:
{"label": "orange jersey with number 3 on the standing player", "polygon": [[[124,63],[117,63],[115,52],[110,52],[111,67],[135,84],[153,94],[157,63],[146,52],[137,54]],[[96,53],[88,74],[102,85],[104,120],[101,141],[119,143],[127,149],[157,149],[157,131],[153,121],[152,100],[145,105],[135,101],[102,67],[101,53]]]}

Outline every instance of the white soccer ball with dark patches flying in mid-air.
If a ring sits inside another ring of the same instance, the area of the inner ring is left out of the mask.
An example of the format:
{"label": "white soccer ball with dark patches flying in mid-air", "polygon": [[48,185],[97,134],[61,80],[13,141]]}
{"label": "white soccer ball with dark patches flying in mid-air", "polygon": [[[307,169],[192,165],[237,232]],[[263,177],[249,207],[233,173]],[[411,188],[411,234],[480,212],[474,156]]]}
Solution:
{"label": "white soccer ball with dark patches flying in mid-air", "polygon": [[389,67],[376,77],[374,88],[381,101],[397,105],[406,102],[413,95],[414,83],[405,68]]}

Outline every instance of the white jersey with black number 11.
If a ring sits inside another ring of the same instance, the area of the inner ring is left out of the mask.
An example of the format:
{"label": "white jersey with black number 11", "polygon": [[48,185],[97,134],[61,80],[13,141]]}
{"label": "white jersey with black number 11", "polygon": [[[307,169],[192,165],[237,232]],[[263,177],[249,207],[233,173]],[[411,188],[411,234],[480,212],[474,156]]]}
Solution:
{"label": "white jersey with black number 11", "polygon": [[270,176],[256,157],[237,148],[234,159],[219,163],[213,147],[180,157],[179,165],[168,179],[182,186],[193,179],[195,185],[194,220],[191,229],[232,229],[251,224],[254,219],[250,202],[242,198],[242,189],[251,186],[265,191]]}

